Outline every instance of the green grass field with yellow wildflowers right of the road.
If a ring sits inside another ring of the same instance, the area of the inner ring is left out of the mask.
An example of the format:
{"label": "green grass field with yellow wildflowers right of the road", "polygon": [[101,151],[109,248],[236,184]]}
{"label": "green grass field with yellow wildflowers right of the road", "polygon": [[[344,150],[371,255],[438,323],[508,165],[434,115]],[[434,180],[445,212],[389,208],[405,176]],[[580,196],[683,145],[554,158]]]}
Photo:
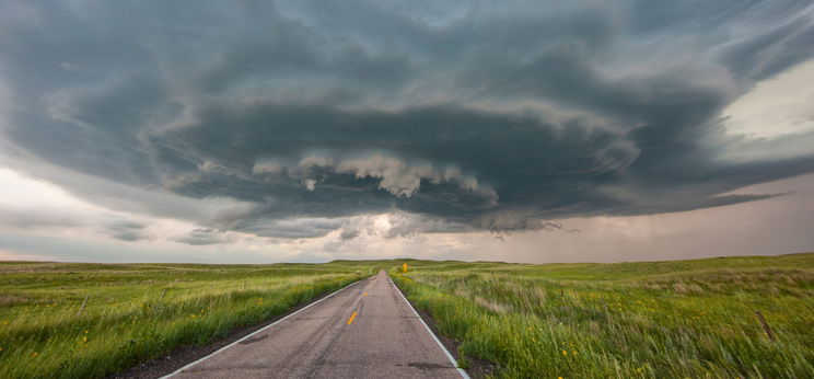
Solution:
{"label": "green grass field with yellow wildflowers right of the road", "polygon": [[497,363],[503,377],[814,377],[814,254],[416,261],[410,273],[391,276],[464,353]]}

